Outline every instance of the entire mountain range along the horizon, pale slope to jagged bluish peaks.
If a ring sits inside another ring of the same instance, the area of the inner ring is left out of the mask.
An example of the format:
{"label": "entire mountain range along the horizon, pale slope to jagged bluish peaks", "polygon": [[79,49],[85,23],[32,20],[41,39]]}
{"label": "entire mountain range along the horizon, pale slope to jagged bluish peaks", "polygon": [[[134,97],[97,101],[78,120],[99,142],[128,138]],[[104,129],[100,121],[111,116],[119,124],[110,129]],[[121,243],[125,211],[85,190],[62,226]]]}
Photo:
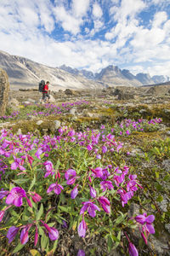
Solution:
{"label": "entire mountain range along the horizon, pale slope to jagged bluish peaks", "polygon": [[150,77],[148,73],[133,75],[129,70],[121,70],[117,66],[110,65],[99,73],[77,68],[48,67],[25,57],[9,55],[0,50],[0,67],[8,73],[9,84],[12,88],[35,87],[40,80],[49,80],[51,90],[98,89],[115,86],[141,86],[148,84],[161,84],[169,81],[167,76]]}

